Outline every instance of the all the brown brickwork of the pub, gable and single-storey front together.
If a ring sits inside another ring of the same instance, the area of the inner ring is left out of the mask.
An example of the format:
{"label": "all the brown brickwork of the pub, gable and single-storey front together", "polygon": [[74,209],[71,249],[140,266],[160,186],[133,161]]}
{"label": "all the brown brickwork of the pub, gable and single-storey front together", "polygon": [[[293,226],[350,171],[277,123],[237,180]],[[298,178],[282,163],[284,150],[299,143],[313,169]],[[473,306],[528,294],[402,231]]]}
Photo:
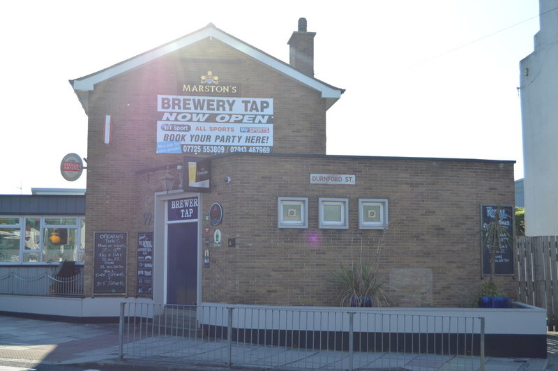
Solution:
{"label": "all the brown brickwork of the pub, gable and single-storey front together", "polygon": [[[221,84],[240,86],[239,96],[273,98],[273,153],[324,155],[319,93],[215,38],[97,84],[89,95],[86,295],[93,292],[93,232],[128,232],[126,294],[135,295],[137,233],[153,230],[153,194],[165,168],[183,161],[156,153],[156,96],[181,95],[181,84],[208,70]],[[110,144],[103,143],[107,114]],[[336,305],[331,271],[362,250],[377,262],[392,305],[469,306],[480,283],[480,205],[513,204],[514,197],[510,162],[234,155],[212,166],[213,189],[201,196],[200,212],[220,202],[225,219],[223,247],[209,248],[211,265],[202,270],[204,301]],[[310,185],[310,173],[354,174],[356,185]],[[309,198],[308,229],[277,228],[277,197],[284,196]],[[349,229],[317,228],[318,197],[349,199]],[[389,199],[388,230],[358,229],[359,197]],[[225,247],[229,238],[236,248]],[[499,282],[513,297],[512,278]]]}

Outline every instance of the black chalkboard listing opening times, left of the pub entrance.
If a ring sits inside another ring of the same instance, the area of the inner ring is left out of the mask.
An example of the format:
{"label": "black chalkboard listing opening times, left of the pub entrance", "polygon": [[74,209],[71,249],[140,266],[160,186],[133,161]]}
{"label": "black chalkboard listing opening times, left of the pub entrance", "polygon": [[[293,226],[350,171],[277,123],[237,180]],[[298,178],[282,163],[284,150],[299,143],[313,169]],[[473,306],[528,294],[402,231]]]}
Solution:
{"label": "black chalkboard listing opening times, left of the pub entrance", "polygon": [[126,248],[128,234],[95,232],[93,265],[94,294],[126,293]]}

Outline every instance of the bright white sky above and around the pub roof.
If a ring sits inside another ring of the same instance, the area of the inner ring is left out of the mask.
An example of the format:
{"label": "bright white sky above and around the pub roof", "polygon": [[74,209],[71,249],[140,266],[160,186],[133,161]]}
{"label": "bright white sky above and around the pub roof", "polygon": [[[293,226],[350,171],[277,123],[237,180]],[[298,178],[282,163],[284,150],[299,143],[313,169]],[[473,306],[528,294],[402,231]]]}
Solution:
{"label": "bright white sky above and around the pub roof", "polygon": [[271,4],[2,2],[0,194],[86,188],[85,175],[60,174],[67,153],[87,157],[87,116],[69,79],[209,23],[288,63],[300,17],[316,33],[315,77],[345,89],[327,114],[328,154],[515,160],[522,178],[519,62],[533,52],[538,0]]}

